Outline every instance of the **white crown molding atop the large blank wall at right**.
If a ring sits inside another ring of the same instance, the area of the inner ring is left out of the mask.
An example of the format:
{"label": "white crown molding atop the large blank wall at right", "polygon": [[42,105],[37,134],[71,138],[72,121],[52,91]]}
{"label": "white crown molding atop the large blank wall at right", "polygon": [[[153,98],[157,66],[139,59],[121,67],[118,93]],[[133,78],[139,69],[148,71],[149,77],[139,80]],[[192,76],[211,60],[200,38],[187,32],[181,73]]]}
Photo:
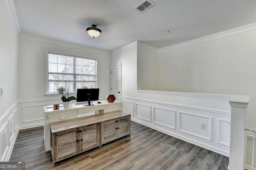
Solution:
{"label": "white crown molding atop the large blank wall at right", "polygon": [[206,41],[214,40],[216,38],[230,36],[230,35],[233,35],[233,34],[238,34],[238,33],[241,33],[241,32],[246,32],[246,31],[250,31],[250,30],[254,30],[254,29],[256,29],[256,23],[252,23],[252,24],[248,24],[248,25],[245,25],[245,26],[233,28],[233,29],[226,30],[226,31],[223,31],[223,32],[218,32],[216,34],[211,34],[209,36],[196,38],[194,40],[189,40],[189,41],[186,41],[186,42],[177,43],[177,44],[174,44],[174,45],[170,45],[168,47],[160,48],[160,49],[158,49],[158,51],[159,52],[167,51],[167,50],[170,50],[170,49],[184,47],[184,46],[187,46],[187,45],[192,45],[192,44],[196,44],[196,43],[200,43],[200,42],[206,42]]}

